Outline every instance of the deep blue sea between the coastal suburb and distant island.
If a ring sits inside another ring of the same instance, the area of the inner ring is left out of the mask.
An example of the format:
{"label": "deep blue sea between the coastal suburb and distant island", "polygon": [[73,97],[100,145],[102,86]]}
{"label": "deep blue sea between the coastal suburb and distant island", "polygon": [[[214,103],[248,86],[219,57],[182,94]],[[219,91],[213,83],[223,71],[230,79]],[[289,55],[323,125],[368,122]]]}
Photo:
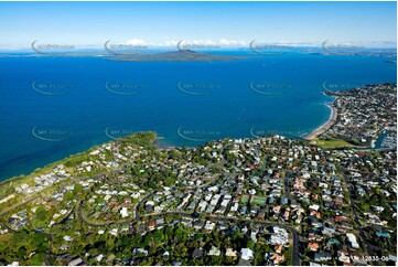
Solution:
{"label": "deep blue sea between the coastal suburb and distant island", "polygon": [[225,137],[304,136],[330,117],[325,88],[395,83],[397,65],[386,60],[0,57],[0,181],[142,130],[189,147]]}

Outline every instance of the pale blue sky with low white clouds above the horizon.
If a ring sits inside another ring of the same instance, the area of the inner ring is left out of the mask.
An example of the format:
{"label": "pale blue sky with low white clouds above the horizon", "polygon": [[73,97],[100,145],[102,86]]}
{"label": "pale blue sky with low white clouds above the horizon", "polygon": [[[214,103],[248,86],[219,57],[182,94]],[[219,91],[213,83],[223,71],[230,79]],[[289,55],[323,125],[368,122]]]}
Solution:
{"label": "pale blue sky with low white clouds above the horizon", "polygon": [[0,50],[192,43],[396,46],[396,2],[0,2]]}

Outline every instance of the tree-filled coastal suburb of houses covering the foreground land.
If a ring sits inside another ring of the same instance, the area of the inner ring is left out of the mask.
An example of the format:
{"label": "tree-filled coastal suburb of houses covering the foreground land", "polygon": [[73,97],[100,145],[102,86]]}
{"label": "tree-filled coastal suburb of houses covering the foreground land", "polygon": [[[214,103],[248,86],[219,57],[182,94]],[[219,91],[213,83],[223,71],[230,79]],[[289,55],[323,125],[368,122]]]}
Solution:
{"label": "tree-filled coastal suburb of houses covering the foreground land", "polygon": [[325,93],[310,140],[139,132],[0,183],[0,265],[396,265],[397,85]]}

